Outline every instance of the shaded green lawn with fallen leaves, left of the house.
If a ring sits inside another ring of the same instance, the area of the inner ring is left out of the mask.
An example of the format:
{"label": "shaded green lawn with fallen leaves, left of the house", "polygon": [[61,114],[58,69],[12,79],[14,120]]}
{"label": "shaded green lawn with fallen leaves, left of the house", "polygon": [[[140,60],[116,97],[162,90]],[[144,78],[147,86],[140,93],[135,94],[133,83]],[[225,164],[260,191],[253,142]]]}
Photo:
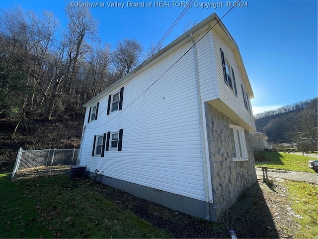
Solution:
{"label": "shaded green lawn with fallen leaves, left of the house", "polygon": [[8,181],[0,174],[0,238],[166,238],[167,232],[92,191],[55,176]]}

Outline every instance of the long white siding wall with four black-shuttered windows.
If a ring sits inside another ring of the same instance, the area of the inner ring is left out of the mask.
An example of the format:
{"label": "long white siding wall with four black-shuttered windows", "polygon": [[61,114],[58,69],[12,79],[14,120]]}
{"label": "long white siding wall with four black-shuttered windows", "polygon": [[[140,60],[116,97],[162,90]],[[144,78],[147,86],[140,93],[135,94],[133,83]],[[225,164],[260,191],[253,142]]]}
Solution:
{"label": "long white siding wall with four black-shuttered windows", "polygon": [[[208,42],[207,38],[205,44]],[[90,172],[98,169],[109,177],[204,200],[193,51],[124,110],[189,47],[191,44],[135,76],[124,88],[123,111],[118,116],[118,111],[106,116],[108,96],[99,102],[97,120],[87,123],[86,108],[81,165],[87,165]],[[200,51],[204,51],[202,47]],[[208,55],[211,57],[211,53]],[[94,135],[120,128],[124,130],[122,151],[110,149],[104,157],[92,157]]]}

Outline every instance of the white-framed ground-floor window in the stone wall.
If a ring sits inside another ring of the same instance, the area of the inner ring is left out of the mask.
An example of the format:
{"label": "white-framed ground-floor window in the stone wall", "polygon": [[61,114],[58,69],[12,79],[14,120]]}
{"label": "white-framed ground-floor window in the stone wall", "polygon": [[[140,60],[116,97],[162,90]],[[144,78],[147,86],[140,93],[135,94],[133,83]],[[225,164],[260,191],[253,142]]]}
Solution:
{"label": "white-framed ground-floor window in the stone wall", "polygon": [[230,124],[232,157],[234,161],[248,160],[244,128]]}

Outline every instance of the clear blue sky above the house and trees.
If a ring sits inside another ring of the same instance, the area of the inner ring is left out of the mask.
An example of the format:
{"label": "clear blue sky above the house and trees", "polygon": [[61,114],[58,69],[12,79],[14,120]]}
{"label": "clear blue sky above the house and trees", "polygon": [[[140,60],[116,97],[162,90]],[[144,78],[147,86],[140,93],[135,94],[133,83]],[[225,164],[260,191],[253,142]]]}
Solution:
{"label": "clear blue sky above the house and trees", "polygon": [[[0,8],[21,5],[24,10],[40,13],[52,11],[61,27],[67,21],[64,8],[70,0],[0,0]],[[75,0],[77,5],[79,1]],[[184,7],[175,6],[108,7],[104,0],[82,2],[104,3],[91,7],[99,21],[99,36],[103,43],[115,47],[124,38],[133,38],[144,48],[157,43]],[[108,1],[110,2],[110,1]],[[115,1],[111,1],[115,2]],[[142,2],[142,1],[131,1]],[[145,0],[145,4],[155,1]],[[172,5],[172,1],[162,1]],[[209,3],[211,0],[197,0]],[[182,17],[163,45],[181,35],[188,22],[199,23],[213,12],[221,18],[230,9],[227,1],[213,1],[217,7],[192,6]],[[234,1],[231,1],[232,3]],[[235,7],[222,21],[237,42],[255,99],[253,113],[272,110],[317,97],[318,39],[317,0],[247,0],[247,6]],[[223,6],[221,6],[221,3]]]}

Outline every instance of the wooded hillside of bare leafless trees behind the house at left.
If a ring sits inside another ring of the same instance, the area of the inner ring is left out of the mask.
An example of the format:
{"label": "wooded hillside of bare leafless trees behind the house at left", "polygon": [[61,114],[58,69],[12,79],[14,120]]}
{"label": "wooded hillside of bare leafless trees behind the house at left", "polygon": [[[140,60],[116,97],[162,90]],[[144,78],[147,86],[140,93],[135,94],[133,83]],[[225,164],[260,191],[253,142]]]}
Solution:
{"label": "wooded hillside of bare leafless trees behind the house at left", "polygon": [[19,147],[78,148],[82,105],[161,47],[144,53],[126,38],[111,48],[89,8],[66,6],[65,14],[63,29],[51,12],[0,11],[0,168]]}

